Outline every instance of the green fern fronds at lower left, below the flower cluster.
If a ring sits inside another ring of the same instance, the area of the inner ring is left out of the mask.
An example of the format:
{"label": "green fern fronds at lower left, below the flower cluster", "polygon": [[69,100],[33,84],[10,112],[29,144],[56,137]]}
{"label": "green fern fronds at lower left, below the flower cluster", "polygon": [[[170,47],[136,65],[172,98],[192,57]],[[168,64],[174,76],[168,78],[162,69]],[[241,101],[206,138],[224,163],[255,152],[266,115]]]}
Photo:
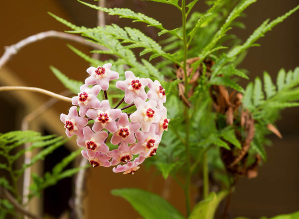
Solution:
{"label": "green fern fronds at lower left, below the flower cluster", "polygon": [[[0,186],[16,195],[16,183],[24,170],[37,161],[43,160],[46,155],[53,152],[57,147],[62,146],[66,141],[67,140],[62,137],[55,137],[54,135],[41,136],[40,133],[34,131],[13,131],[0,134],[0,155],[6,159],[4,163],[0,163],[0,168],[6,170],[9,174],[9,178],[5,178],[4,176],[0,177]],[[24,144],[29,145],[24,148],[21,147]],[[16,152],[12,151],[14,148],[17,148]],[[39,152],[31,158],[29,163],[23,163],[19,169],[13,168],[13,163],[18,160],[21,155],[36,148],[39,148]],[[80,151],[81,150],[74,151],[69,156],[65,157],[53,168],[51,174],[46,173],[44,178],[38,178],[37,181],[39,184],[35,183],[32,186],[35,188],[34,195],[38,195],[41,192],[41,188],[43,189],[49,185],[53,185],[58,180],[72,176],[78,172],[79,168],[63,170],[66,165],[80,153]],[[37,176],[33,175],[33,179],[37,179]],[[32,194],[30,197],[32,197]]]}

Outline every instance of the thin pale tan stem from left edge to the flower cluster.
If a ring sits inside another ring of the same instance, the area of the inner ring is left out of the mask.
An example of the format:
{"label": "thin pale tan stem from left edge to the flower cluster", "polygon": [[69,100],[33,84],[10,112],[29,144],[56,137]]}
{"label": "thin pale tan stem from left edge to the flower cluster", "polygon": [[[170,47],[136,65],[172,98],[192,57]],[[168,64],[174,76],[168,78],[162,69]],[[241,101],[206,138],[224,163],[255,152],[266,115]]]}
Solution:
{"label": "thin pale tan stem from left edge to the flower cluster", "polygon": [[27,90],[27,91],[33,91],[33,92],[38,92],[42,93],[51,97],[54,97],[56,99],[71,103],[72,99],[66,96],[59,95],[57,93],[53,93],[51,91],[41,89],[38,87],[26,87],[26,86],[1,86],[0,91],[8,91],[8,90]]}

